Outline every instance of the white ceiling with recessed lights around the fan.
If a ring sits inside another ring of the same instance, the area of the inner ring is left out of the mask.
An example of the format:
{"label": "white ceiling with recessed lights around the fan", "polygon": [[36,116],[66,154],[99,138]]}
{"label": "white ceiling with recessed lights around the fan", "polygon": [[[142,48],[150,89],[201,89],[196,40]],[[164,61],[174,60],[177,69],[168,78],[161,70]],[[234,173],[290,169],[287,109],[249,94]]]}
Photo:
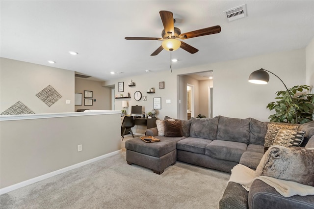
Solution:
{"label": "white ceiling with recessed lights around the fan", "polygon": [[[223,11],[246,3],[247,17]],[[161,37],[160,10],[184,32],[219,25],[218,34],[186,39],[199,52],[172,52],[173,71],[200,64],[305,48],[314,37],[314,1],[3,1],[0,56],[76,71],[103,80],[169,70],[170,52],[150,56]],[[78,52],[71,55],[68,51]],[[56,63],[49,64],[47,60]],[[111,75],[110,72],[124,72]]]}

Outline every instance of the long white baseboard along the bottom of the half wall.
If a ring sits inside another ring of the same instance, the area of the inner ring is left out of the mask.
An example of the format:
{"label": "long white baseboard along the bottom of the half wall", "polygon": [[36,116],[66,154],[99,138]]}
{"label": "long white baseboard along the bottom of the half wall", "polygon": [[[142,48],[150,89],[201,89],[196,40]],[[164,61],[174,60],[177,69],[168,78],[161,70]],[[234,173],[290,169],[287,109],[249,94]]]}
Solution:
{"label": "long white baseboard along the bottom of the half wall", "polygon": [[83,161],[83,162],[79,162],[77,164],[70,165],[68,167],[61,168],[61,169],[56,170],[56,171],[52,171],[52,172],[50,172],[48,174],[44,174],[44,175],[35,177],[33,179],[26,180],[24,182],[20,182],[20,183],[13,184],[11,186],[4,187],[4,188],[0,189],[0,194],[5,194],[7,192],[10,192],[10,191],[13,191],[15,189],[21,188],[23,186],[27,186],[27,185],[32,184],[32,183],[40,182],[42,180],[48,179],[50,177],[53,177],[55,175],[62,174],[64,172],[67,172],[67,171],[79,168],[79,167],[81,167],[83,165],[87,165],[87,164],[92,163],[92,162],[96,162],[96,161],[98,161],[100,159],[104,159],[106,157],[114,156],[114,155],[119,154],[119,153],[121,153],[121,150],[117,150],[117,151],[114,151],[112,153],[105,154],[103,156],[99,156],[99,157],[95,157],[95,158],[92,158],[92,159],[89,159],[89,160],[86,160],[86,161]]}

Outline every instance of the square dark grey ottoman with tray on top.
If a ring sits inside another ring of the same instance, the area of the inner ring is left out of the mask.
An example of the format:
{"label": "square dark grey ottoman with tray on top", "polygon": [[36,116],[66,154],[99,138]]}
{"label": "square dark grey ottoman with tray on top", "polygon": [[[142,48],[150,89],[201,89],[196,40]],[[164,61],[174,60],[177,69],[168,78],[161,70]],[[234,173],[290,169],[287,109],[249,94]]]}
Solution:
{"label": "square dark grey ottoman with tray on top", "polygon": [[[155,136],[156,137],[156,136]],[[177,141],[184,137],[156,137],[159,142],[146,143],[139,137],[126,141],[127,162],[136,164],[162,174],[164,169],[177,161]]]}

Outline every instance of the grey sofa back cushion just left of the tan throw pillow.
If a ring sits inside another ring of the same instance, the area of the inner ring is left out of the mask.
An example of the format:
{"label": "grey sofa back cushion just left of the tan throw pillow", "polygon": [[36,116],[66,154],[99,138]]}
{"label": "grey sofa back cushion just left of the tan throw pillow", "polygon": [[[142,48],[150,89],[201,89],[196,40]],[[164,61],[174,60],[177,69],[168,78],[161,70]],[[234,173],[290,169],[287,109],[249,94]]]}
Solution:
{"label": "grey sofa back cushion just left of the tan throw pillow", "polygon": [[261,122],[254,118],[250,120],[250,144],[264,145],[268,122]]}

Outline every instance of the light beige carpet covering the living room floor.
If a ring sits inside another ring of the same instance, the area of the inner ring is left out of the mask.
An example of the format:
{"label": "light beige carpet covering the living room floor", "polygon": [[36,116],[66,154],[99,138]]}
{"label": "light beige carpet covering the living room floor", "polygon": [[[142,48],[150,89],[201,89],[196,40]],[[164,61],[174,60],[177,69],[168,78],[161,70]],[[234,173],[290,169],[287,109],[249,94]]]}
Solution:
{"label": "light beige carpet covering the living room floor", "polygon": [[217,209],[229,177],[182,162],[157,175],[128,165],[123,151],[3,194],[0,208]]}

